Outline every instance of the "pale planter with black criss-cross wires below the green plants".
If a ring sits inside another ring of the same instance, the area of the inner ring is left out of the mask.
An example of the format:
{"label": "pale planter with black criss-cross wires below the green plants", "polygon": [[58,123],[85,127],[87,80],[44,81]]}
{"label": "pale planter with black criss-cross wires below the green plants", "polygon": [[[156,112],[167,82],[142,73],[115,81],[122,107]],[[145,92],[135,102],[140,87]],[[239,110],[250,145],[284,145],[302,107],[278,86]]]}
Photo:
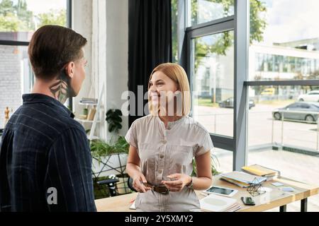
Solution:
{"label": "pale planter with black criss-cross wires below the green plants", "polygon": [[92,157],[92,172],[94,177],[125,174],[127,160],[127,153],[101,156],[100,160],[96,159],[96,157]]}

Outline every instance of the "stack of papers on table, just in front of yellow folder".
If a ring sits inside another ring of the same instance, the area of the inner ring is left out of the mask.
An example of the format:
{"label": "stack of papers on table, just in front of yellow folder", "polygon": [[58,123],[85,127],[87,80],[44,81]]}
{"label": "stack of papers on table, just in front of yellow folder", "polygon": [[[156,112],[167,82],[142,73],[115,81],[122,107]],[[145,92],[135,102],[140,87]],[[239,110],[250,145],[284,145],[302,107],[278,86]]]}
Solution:
{"label": "stack of papers on table, just in front of yellow folder", "polygon": [[242,188],[250,186],[250,184],[262,183],[267,180],[266,177],[259,177],[252,174],[247,174],[246,172],[229,172],[227,174],[220,174],[220,179],[223,179],[232,184],[236,184]]}

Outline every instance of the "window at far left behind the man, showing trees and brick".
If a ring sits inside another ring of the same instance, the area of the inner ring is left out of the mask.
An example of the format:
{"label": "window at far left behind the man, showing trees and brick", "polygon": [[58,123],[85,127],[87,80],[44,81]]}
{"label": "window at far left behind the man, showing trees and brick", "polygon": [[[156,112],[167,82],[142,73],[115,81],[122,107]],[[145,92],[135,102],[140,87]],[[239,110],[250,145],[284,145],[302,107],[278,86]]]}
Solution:
{"label": "window at far left behind the man, showing trees and brick", "polygon": [[69,27],[69,0],[0,0],[0,129],[4,110],[10,115],[30,93],[34,76],[28,60],[28,42],[43,25]]}

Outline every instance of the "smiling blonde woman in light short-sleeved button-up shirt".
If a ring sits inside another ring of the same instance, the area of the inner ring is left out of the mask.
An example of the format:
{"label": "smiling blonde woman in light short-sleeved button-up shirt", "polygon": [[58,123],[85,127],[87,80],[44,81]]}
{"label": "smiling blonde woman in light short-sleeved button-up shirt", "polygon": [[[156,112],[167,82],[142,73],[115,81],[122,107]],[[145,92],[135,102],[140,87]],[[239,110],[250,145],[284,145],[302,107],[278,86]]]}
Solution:
{"label": "smiling blonde woman in light short-sleeved button-up shirt", "polygon": [[[194,189],[212,183],[208,131],[188,116],[189,81],[178,64],[161,64],[148,84],[150,114],[137,119],[125,138],[130,144],[126,171],[139,192],[140,211],[199,211]],[[196,177],[193,158],[196,160]]]}

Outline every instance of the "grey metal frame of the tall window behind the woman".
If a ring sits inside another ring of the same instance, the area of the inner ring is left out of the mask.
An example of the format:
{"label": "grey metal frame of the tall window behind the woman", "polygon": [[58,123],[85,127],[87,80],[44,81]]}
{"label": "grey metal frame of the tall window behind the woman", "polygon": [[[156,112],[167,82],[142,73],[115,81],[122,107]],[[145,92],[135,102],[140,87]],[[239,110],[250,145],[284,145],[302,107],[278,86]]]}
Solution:
{"label": "grey metal frame of the tall window behind the woman", "polygon": [[216,148],[233,151],[233,169],[239,170],[247,162],[247,112],[249,98],[247,95],[248,87],[244,83],[248,79],[249,70],[250,1],[235,0],[234,3],[235,13],[233,16],[219,18],[186,28],[186,25],[190,24],[190,0],[180,0],[178,3],[178,14],[179,18],[184,16],[184,21],[180,19],[179,21],[183,21],[184,23],[179,24],[178,44],[179,64],[186,69],[192,89],[194,76],[191,75],[191,40],[204,35],[213,35],[228,30],[234,31],[233,138],[211,133],[211,139]]}

